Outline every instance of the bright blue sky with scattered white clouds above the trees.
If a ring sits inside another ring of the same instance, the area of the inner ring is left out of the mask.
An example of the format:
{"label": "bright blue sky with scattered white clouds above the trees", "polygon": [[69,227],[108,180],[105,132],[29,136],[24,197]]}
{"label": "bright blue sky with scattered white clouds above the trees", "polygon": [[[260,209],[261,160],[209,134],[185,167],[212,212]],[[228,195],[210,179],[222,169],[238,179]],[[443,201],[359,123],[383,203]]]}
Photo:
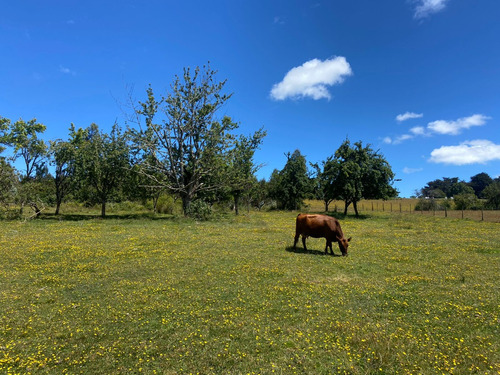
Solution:
{"label": "bright blue sky with scattered white clouds above the trees", "polygon": [[223,107],[268,136],[259,177],[299,149],[379,150],[401,196],[442,177],[500,175],[500,1],[38,1],[0,11],[0,116],[45,139],[124,123],[128,88],[165,92],[210,61]]}

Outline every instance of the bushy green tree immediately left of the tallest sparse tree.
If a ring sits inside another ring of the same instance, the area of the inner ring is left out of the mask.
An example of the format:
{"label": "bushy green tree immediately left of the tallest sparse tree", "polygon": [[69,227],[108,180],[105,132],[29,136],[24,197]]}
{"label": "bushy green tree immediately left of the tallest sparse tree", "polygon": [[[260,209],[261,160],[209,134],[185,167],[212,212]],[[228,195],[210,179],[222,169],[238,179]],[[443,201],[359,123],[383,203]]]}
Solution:
{"label": "bushy green tree immediately left of the tallest sparse tree", "polygon": [[106,203],[120,191],[130,169],[129,148],[125,135],[117,124],[110,134],[96,124],[87,129],[70,130],[70,142],[75,147],[75,178],[80,196],[101,204],[101,216],[106,216]]}

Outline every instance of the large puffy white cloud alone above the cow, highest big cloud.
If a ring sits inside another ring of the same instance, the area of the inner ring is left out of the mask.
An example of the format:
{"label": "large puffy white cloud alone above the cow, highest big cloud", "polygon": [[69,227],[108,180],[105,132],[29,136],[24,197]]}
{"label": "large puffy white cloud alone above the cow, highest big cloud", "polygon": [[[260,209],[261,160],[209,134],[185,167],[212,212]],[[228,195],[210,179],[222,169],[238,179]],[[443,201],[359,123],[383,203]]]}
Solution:
{"label": "large puffy white cloud alone above the cow, highest big cloud", "polygon": [[345,57],[338,56],[325,61],[309,60],[292,68],[280,83],[273,85],[271,98],[285,100],[310,97],[314,100],[329,100],[331,95],[328,86],[340,84],[350,75],[351,66]]}

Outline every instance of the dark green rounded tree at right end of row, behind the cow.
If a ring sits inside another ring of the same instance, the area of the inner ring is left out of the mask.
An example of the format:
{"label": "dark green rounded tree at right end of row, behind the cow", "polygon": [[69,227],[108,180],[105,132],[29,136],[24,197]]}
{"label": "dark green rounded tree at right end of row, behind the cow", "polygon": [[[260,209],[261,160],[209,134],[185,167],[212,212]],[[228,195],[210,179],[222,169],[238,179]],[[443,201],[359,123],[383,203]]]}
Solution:
{"label": "dark green rounded tree at right end of row, behind the cow", "polygon": [[329,194],[344,201],[344,214],[352,203],[356,216],[361,199],[389,199],[397,196],[391,184],[394,173],[387,160],[361,141],[351,143],[346,139],[329,160],[328,176],[332,186]]}

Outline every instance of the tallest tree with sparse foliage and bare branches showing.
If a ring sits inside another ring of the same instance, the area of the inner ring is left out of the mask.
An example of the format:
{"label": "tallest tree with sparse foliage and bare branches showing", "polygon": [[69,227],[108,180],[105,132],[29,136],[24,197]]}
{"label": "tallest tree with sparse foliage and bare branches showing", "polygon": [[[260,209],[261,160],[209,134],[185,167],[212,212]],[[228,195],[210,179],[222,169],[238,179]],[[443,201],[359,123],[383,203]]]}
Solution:
{"label": "tallest tree with sparse foliage and bare branches showing", "polygon": [[185,215],[197,196],[221,188],[214,176],[224,167],[230,132],[237,127],[229,117],[217,121],[231,94],[222,93],[226,81],[216,82],[215,75],[209,66],[193,73],[185,68],[182,79],[175,76],[170,92],[159,101],[150,87],[147,101],[136,111],[137,147],[152,155],[142,162],[143,173],[152,184],[179,196]]}

